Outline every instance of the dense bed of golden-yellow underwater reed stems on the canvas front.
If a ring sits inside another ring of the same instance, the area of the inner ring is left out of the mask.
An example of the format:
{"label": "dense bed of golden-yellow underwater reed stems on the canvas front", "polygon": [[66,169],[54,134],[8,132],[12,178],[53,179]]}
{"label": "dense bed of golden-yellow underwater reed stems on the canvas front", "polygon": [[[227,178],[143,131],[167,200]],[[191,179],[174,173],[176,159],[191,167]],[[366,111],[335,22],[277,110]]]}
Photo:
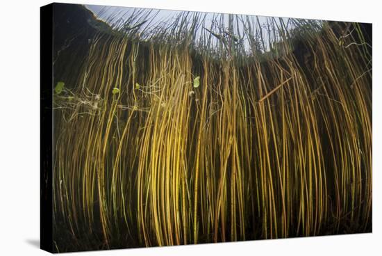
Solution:
{"label": "dense bed of golden-yellow underwater reed stems on the canvas front", "polygon": [[371,46],[359,24],[339,34],[269,19],[265,35],[229,15],[224,37],[190,17],[117,24],[55,74],[56,250],[370,232]]}

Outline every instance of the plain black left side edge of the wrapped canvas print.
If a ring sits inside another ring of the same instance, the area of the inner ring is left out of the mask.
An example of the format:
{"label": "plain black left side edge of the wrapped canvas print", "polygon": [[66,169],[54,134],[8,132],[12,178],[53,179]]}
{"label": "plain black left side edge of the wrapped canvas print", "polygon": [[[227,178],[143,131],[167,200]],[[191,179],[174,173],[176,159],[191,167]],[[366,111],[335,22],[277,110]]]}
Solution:
{"label": "plain black left side edge of the wrapped canvas print", "polygon": [[53,3],[40,8],[40,248],[53,253]]}

